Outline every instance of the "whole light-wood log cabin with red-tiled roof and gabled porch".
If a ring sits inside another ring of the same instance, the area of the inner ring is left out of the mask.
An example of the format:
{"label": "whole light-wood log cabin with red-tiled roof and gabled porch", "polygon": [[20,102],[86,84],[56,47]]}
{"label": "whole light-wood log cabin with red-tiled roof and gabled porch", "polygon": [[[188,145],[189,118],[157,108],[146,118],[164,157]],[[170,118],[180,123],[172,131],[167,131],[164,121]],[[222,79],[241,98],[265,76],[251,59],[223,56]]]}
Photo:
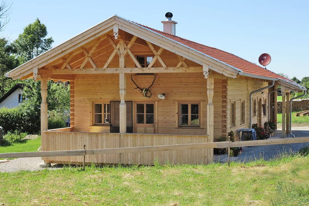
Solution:
{"label": "whole light-wood log cabin with red-tiled roof and gabled porch", "polygon": [[[162,23],[163,32],[115,15],[6,74],[41,81],[42,151],[213,142],[252,123],[263,125],[268,116],[276,120],[272,91],[278,86],[284,102],[290,91],[305,89],[231,53],[176,36],[171,15]],[[70,128],[47,128],[49,80],[70,81]],[[288,112],[282,118],[284,136]],[[87,163],[155,161],[208,164],[213,149],[86,156]]]}

